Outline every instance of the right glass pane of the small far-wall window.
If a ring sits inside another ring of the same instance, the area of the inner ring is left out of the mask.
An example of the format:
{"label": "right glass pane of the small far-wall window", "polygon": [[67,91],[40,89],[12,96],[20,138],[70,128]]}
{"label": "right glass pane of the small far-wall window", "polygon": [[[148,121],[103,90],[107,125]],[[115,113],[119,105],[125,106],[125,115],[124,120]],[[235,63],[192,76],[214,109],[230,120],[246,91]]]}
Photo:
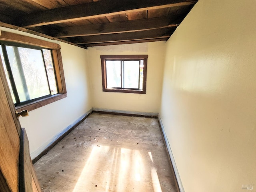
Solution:
{"label": "right glass pane of the small far-wall window", "polygon": [[139,88],[140,61],[124,61],[123,88]]}

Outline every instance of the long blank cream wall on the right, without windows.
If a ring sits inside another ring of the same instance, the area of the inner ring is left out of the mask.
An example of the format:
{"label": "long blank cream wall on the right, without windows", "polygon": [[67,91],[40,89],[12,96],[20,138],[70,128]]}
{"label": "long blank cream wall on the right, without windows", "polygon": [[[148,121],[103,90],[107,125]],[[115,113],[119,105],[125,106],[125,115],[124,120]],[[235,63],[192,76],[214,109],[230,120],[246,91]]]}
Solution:
{"label": "long blank cream wall on the right, without windows", "polygon": [[255,18],[255,0],[199,0],[167,42],[160,116],[186,192],[256,191]]}

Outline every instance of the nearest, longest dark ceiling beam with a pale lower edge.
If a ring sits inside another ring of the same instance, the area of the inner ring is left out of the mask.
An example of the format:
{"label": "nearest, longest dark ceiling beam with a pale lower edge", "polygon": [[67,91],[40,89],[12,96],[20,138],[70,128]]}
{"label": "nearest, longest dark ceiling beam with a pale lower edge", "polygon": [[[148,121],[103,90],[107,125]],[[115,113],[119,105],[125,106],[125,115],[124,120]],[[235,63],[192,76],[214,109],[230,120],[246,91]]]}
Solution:
{"label": "nearest, longest dark ceiling beam with a pale lower edge", "polygon": [[16,18],[16,25],[31,28],[127,12],[195,4],[197,0],[102,0],[61,7]]}

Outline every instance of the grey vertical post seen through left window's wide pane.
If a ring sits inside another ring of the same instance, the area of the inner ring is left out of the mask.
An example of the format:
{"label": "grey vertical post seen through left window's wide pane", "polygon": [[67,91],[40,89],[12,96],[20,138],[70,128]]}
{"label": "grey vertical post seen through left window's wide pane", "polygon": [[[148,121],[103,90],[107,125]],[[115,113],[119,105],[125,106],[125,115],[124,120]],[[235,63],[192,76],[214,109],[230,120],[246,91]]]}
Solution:
{"label": "grey vertical post seen through left window's wide pane", "polygon": [[25,93],[25,96],[26,96],[26,100],[30,100],[30,96],[29,96],[29,92],[28,92],[28,86],[27,86],[27,83],[26,83],[26,78],[25,78],[23,67],[22,67],[22,62],[21,62],[21,59],[20,59],[20,53],[19,53],[18,47],[13,47],[13,50],[14,50],[14,54],[15,54],[15,58],[16,58],[17,66],[18,66],[18,71],[19,71],[19,74],[20,74],[20,79],[21,79],[21,82],[22,82],[22,87],[23,87],[23,90],[24,90],[24,93]]}

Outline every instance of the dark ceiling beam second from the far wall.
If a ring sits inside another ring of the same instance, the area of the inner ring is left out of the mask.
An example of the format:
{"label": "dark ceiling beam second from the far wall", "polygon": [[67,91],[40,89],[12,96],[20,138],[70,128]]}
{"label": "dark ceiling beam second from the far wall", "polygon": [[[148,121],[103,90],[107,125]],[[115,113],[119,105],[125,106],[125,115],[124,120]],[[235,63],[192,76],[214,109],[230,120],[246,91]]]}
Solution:
{"label": "dark ceiling beam second from the far wall", "polygon": [[169,38],[176,28],[167,29],[155,29],[140,32],[107,34],[107,35],[94,35],[94,36],[82,36],[82,37],[70,37],[64,38],[64,40],[70,41],[75,44],[92,44],[102,42],[118,42],[128,40],[145,40],[156,38]]}

